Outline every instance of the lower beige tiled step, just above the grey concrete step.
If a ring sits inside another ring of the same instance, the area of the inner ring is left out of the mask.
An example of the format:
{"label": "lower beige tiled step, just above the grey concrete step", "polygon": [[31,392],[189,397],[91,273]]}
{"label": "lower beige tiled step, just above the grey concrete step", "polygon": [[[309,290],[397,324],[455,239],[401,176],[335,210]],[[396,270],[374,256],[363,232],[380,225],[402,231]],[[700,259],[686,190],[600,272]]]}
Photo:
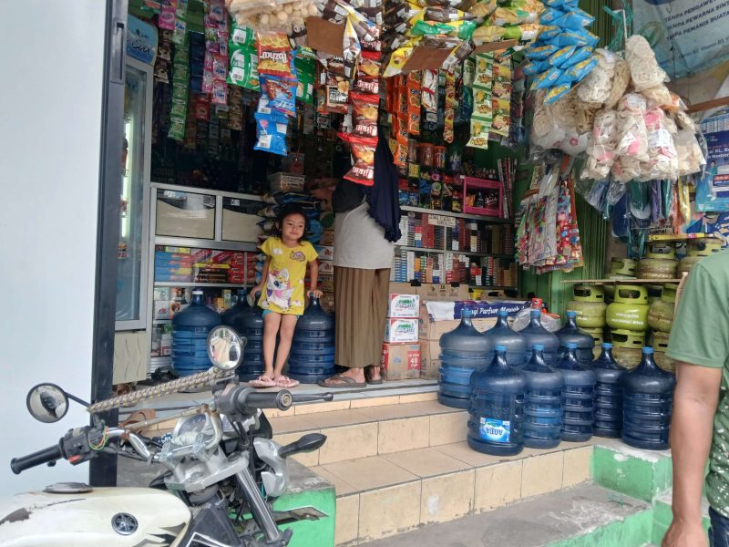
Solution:
{"label": "lower beige tiled step, just above the grey concrete step", "polygon": [[591,453],[589,443],[562,443],[493,457],[460,441],[310,469],[334,484],[336,544],[356,545],[580,484]]}

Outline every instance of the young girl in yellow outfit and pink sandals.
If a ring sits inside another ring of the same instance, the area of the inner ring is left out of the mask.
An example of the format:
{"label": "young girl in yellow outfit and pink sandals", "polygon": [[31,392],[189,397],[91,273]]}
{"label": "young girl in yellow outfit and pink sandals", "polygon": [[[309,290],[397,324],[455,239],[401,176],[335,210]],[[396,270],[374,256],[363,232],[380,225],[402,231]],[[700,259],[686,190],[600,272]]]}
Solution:
{"label": "young girl in yellow outfit and pink sandals", "polygon": [[[282,207],[276,219],[278,237],[269,237],[261,250],[268,256],[263,264],[261,283],[253,294],[261,293],[258,305],[263,309],[263,362],[265,371],[252,380],[251,387],[294,387],[299,382],[282,375],[283,365],[289,356],[293,328],[303,314],[304,283],[306,266],[309,266],[309,293],[319,297],[322,292],[316,288],[319,274],[317,253],[311,243],[304,240],[308,222],[303,209],[296,204]],[[276,366],[273,366],[273,352],[276,349],[276,335],[279,335],[279,349]]]}

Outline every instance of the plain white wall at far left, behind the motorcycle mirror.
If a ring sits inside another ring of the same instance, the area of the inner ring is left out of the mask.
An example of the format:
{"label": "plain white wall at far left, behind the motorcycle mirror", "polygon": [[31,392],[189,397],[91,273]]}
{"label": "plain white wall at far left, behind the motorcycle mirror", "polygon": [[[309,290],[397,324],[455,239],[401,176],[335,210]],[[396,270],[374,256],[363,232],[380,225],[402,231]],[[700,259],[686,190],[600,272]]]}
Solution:
{"label": "plain white wall at far left, behind the motorcycle mirror", "polygon": [[36,422],[26,392],[91,390],[105,15],[102,0],[0,2],[0,495],[88,477],[9,464],[88,422],[75,403]]}

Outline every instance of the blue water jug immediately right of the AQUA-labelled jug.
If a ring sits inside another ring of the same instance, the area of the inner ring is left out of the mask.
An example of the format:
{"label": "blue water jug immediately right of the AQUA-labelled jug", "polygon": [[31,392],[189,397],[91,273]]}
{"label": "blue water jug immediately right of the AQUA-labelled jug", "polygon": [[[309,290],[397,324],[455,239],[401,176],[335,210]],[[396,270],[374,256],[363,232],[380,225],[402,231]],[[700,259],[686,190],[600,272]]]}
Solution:
{"label": "blue water jug immediately right of the AQUA-labelled jug", "polygon": [[529,362],[521,368],[527,379],[524,396],[524,446],[553,449],[562,438],[564,378],[544,362],[544,348],[535,344]]}

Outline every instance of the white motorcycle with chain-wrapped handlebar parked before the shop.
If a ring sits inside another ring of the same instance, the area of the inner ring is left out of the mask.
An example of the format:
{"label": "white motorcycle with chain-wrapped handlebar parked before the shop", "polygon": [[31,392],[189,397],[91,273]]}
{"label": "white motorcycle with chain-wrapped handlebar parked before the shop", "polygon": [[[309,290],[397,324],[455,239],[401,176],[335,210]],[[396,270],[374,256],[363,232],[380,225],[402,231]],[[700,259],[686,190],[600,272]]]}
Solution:
{"label": "white motorcycle with chain-wrapped handlebar parked before the shop", "polygon": [[[281,446],[272,440],[265,408],[332,400],[331,393],[293,395],[283,389],[260,392],[238,383],[245,338],[230,327],[213,329],[207,346],[214,364],[207,372],[181,377],[88,405],[54,384],[33,387],[26,398],[30,414],[54,423],[69,399],[85,405],[91,424],[69,429],[56,445],[15,458],[15,474],[58,459],[79,465],[100,453],[159,463],[165,472],[149,488],[92,488],[56,483],[0,501],[0,545],[13,547],[285,547],[291,529],[279,525],[324,515],[315,508],[273,511],[272,502],[289,486],[286,459],[322,447],[319,433]],[[207,404],[173,417],[108,427],[100,412],[184,390],[210,387]],[[177,418],[171,436],[153,438],[143,430]]]}

